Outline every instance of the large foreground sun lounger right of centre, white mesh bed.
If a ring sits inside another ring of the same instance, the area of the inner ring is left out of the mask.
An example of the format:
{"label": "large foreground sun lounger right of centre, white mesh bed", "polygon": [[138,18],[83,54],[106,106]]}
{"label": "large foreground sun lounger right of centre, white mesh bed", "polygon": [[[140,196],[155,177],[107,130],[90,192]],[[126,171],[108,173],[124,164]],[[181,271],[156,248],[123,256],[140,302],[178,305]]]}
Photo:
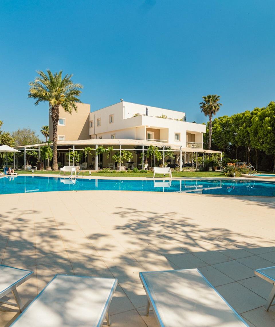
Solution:
{"label": "large foreground sun lounger right of centre, white mesh bed", "polygon": [[140,272],[150,306],[161,327],[248,326],[198,269]]}

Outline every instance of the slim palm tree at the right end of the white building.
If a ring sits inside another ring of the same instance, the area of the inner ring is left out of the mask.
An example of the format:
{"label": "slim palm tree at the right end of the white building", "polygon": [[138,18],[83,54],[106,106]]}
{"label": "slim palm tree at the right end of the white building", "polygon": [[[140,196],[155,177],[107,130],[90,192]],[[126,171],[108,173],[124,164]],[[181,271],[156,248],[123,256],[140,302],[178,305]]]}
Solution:
{"label": "slim palm tree at the right end of the white building", "polygon": [[200,102],[200,108],[205,116],[209,116],[209,139],[208,139],[208,150],[211,149],[211,140],[212,140],[212,116],[219,111],[219,107],[222,106],[219,103],[219,95],[217,94],[208,94],[203,96],[203,102]]}

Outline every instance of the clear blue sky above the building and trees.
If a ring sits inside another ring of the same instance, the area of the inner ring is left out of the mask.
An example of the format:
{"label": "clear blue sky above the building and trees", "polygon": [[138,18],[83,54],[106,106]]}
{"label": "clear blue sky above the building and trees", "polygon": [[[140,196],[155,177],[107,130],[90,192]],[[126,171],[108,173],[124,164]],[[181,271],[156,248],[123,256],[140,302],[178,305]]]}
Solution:
{"label": "clear blue sky above the building and trees", "polygon": [[219,115],[275,100],[274,1],[13,0],[0,6],[4,130],[48,125],[48,106],[27,99],[35,71],[47,68],[74,74],[92,111],[123,98],[203,122],[203,95],[221,96]]}

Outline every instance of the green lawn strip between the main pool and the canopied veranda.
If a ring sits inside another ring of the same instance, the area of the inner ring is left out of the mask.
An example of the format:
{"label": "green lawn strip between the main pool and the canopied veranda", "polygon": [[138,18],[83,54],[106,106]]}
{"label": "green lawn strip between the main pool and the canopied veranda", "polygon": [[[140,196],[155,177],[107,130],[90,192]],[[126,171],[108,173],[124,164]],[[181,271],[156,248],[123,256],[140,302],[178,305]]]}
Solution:
{"label": "green lawn strip between the main pool and the canopied veranda", "polygon": [[[29,170],[15,170],[18,174],[32,174]],[[59,171],[39,171],[34,170],[35,174],[52,174],[52,175],[58,175]],[[61,173],[61,176],[63,173]],[[66,173],[66,175],[70,175],[69,172]],[[89,176],[89,171],[86,171],[83,173],[84,176]],[[82,172],[79,174],[79,177],[82,176]],[[153,177],[153,172],[148,173],[133,173],[131,171],[126,172],[117,172],[117,173],[95,173],[91,172],[91,176],[105,176],[105,177]],[[166,175],[168,176],[168,175]],[[155,177],[163,177],[161,174],[156,174]],[[172,177],[224,177],[224,175],[221,172],[215,172],[215,171],[182,171],[182,172],[173,172]]]}

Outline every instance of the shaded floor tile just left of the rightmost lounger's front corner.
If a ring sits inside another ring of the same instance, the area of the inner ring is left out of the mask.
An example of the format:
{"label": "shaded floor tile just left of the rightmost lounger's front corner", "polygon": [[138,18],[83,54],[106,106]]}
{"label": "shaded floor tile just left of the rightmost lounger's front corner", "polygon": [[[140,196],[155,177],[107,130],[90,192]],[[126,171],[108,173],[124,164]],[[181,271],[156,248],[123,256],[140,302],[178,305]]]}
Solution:
{"label": "shaded floor tile just left of the rightmost lounger's front corner", "polygon": [[216,264],[213,265],[213,267],[235,281],[255,276],[254,271],[251,268],[246,267],[235,260]]}

